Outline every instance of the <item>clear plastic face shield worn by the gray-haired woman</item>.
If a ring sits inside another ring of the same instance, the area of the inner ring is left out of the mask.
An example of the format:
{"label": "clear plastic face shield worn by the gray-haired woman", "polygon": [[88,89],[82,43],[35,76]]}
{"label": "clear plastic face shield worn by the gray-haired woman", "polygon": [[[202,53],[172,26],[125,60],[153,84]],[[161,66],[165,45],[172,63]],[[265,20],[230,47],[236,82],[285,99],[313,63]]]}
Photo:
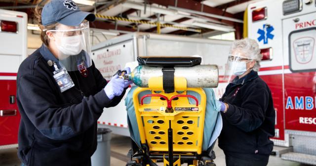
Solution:
{"label": "clear plastic face shield worn by the gray-haired woman", "polygon": [[241,53],[230,53],[226,63],[224,81],[231,83],[237,76],[244,74],[247,69],[247,63],[252,59],[242,56]]}

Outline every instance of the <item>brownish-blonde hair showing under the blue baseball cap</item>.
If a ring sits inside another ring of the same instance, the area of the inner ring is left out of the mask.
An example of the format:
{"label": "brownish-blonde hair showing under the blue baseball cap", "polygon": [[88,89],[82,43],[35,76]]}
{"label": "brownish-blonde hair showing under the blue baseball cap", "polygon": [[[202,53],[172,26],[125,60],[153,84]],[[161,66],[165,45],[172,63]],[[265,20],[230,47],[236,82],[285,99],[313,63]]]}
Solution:
{"label": "brownish-blonde hair showing under the blue baseball cap", "polygon": [[48,36],[46,35],[46,31],[43,31],[43,30],[45,30],[45,29],[47,29],[47,30],[56,29],[56,26],[59,23],[53,23],[53,24],[46,25],[46,26],[42,25],[42,22],[41,22],[41,11],[42,11],[42,8],[40,8],[40,6],[36,6],[35,9],[34,9],[34,16],[35,16],[35,19],[38,22],[38,26],[40,28],[40,40],[46,46],[48,46],[49,39],[48,39]]}

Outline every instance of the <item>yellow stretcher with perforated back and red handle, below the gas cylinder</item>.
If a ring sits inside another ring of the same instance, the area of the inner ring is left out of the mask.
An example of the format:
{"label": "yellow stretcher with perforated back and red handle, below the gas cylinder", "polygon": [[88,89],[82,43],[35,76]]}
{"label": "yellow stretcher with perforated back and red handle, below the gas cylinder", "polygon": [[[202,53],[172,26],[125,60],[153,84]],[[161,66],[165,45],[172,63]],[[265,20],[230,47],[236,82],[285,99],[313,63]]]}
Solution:
{"label": "yellow stretcher with perforated back and red handle, below the gas cylinder", "polygon": [[[187,87],[185,78],[174,77],[174,91],[165,93],[163,77],[149,79],[149,87],[137,87],[133,103],[142,147],[131,157],[126,166],[215,166],[209,156],[202,153],[206,95],[202,88]],[[152,94],[141,96],[142,91]],[[186,91],[195,91],[200,102]],[[143,100],[151,97],[149,104]],[[190,104],[188,98],[196,103]],[[184,111],[188,108],[192,111]]]}

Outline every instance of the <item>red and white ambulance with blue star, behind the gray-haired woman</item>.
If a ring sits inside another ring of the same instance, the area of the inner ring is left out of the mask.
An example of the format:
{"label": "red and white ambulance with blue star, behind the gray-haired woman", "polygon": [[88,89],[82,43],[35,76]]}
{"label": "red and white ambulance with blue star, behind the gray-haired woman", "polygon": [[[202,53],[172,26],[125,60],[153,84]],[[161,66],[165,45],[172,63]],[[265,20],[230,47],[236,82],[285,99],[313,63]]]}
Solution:
{"label": "red and white ambulance with blue star, behind the gray-haired woman", "polygon": [[272,140],[289,147],[276,155],[316,165],[316,1],[264,0],[245,13],[244,31],[263,54],[258,74],[272,91]]}

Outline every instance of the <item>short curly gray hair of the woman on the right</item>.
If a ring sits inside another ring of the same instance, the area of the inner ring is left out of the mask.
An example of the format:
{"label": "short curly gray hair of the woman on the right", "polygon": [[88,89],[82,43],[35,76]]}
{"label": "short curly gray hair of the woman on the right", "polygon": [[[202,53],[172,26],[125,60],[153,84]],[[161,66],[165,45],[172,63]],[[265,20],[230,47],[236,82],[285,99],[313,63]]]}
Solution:
{"label": "short curly gray hair of the woman on the right", "polygon": [[253,66],[253,70],[259,71],[262,54],[260,53],[258,42],[248,38],[235,40],[231,46],[231,52],[233,50],[242,51],[247,57],[255,60],[256,63]]}

